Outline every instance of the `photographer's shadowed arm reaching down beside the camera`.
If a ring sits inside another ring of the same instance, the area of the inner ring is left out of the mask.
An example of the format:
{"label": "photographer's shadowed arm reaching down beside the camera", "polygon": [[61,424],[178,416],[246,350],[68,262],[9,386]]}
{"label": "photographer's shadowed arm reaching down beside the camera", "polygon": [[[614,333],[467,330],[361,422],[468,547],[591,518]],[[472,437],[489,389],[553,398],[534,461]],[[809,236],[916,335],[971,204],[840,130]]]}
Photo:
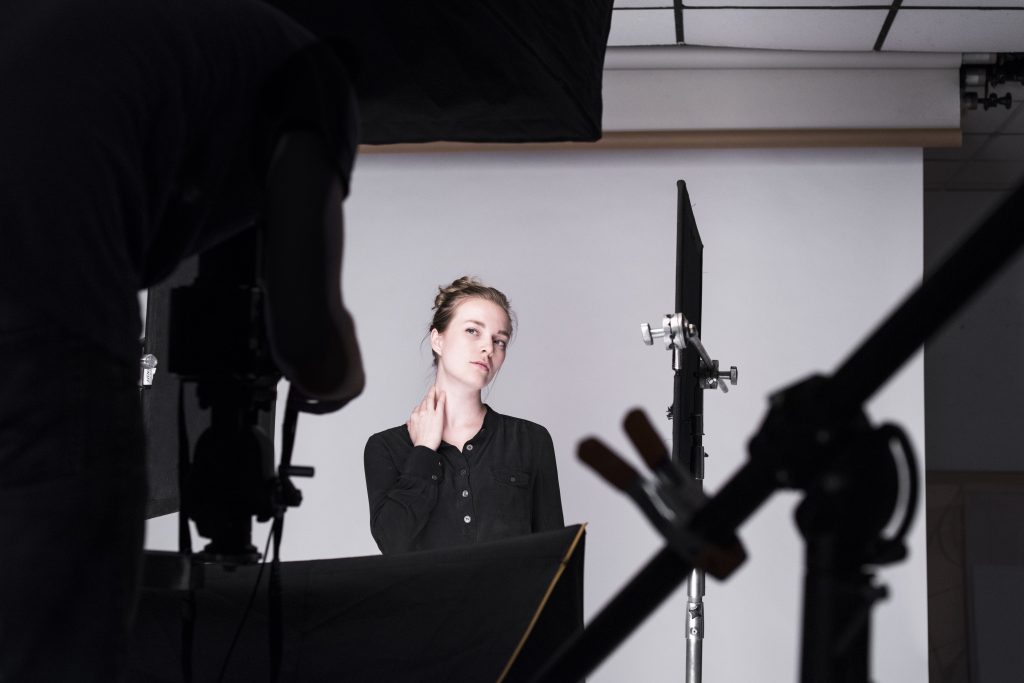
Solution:
{"label": "photographer's shadowed arm reaching down beside the camera", "polygon": [[[303,393],[345,402],[365,377],[341,294],[342,188],[323,137],[278,141],[266,185],[267,327],[274,359]],[[340,405],[339,405],[340,408]]]}

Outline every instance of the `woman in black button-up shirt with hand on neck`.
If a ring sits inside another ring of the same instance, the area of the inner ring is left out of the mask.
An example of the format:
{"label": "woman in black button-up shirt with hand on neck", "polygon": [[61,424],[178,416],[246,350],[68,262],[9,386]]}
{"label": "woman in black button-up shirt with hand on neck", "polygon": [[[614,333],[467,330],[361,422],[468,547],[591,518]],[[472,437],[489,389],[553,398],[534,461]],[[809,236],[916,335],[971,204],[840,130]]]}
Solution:
{"label": "woman in black button-up shirt with hand on neck", "polygon": [[381,552],[563,526],[548,430],[480,399],[505,361],[512,317],[505,295],[474,278],[439,288],[433,386],[404,425],[367,441],[370,527]]}

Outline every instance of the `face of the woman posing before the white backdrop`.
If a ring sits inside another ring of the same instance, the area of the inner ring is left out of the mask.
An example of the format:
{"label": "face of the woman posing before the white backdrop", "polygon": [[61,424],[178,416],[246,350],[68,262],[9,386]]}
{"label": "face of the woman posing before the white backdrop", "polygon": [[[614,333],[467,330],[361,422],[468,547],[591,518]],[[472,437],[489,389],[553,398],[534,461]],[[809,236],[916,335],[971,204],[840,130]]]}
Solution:
{"label": "face of the woman posing before the white backdrop", "polygon": [[495,378],[505,362],[510,328],[508,315],[486,299],[460,302],[444,332],[430,332],[430,346],[437,354],[437,374],[476,389]]}

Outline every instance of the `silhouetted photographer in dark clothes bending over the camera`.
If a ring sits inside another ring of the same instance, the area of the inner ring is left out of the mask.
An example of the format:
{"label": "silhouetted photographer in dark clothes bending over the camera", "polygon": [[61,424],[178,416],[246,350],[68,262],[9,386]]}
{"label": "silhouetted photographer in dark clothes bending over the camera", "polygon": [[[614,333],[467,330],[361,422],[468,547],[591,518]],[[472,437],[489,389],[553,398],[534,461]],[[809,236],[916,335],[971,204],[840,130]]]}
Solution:
{"label": "silhouetted photographer in dark clothes bending over the camera", "polygon": [[0,91],[0,680],[108,683],[146,500],[136,292],[262,219],[279,366],[357,394],[354,105],[254,0],[4,0]]}

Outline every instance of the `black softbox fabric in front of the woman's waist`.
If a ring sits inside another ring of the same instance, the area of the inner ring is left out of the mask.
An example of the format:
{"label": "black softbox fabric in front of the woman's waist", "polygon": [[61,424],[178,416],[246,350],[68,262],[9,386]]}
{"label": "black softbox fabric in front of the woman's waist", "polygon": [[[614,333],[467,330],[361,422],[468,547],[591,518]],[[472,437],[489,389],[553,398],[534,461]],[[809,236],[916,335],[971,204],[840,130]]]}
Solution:
{"label": "black softbox fabric in front of the woman's waist", "polygon": [[[577,525],[472,547],[284,562],[282,681],[496,681],[557,579],[522,648],[523,658],[516,659],[506,679],[528,680],[583,628],[583,550]],[[563,559],[567,564],[559,573]],[[206,567],[206,586],[196,593],[195,680],[217,680],[257,571],[255,566],[230,572]],[[143,593],[130,681],[181,680],[183,599],[171,592]],[[267,628],[261,588],[225,682],[267,680]]]}

